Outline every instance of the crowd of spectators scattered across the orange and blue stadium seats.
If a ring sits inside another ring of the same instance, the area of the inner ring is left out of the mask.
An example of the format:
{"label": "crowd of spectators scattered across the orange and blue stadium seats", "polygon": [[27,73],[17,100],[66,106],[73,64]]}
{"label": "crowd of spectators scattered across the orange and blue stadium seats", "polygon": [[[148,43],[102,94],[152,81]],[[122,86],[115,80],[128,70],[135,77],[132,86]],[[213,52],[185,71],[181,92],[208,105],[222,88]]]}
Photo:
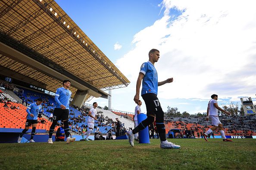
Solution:
{"label": "crowd of spectators scattered across the orange and blue stadium seats", "polygon": [[[1,86],[1,85],[0,85]],[[6,86],[6,85],[5,85]],[[5,88],[8,88],[7,86]],[[23,92],[24,91],[24,92]],[[42,94],[39,92],[30,91],[28,89],[22,89],[23,93],[16,93],[21,99],[22,104],[29,104],[35,102],[37,98],[42,98],[43,103],[43,114],[49,118],[50,114],[53,113],[55,108],[55,100],[53,97],[47,94]],[[20,109],[19,107],[12,106],[11,100],[2,94],[0,94],[0,103],[4,103],[3,107],[8,109]],[[71,105],[70,107],[70,117],[69,117],[69,125],[72,128],[77,129],[78,132],[81,132],[82,128],[87,124],[87,116],[90,110],[89,106],[82,106],[79,108],[78,106]],[[104,110],[103,110],[104,111]],[[95,126],[99,127],[99,131],[101,134],[107,134],[107,138],[111,139],[112,134],[116,133],[116,124],[117,121],[113,120],[113,118],[108,117],[108,115],[104,114],[102,109],[99,109],[97,112],[97,121],[95,121]],[[104,111],[105,112],[105,111]],[[132,115],[128,115],[127,113],[113,112],[118,115],[120,118],[124,118],[125,116],[131,117]],[[44,124],[45,120],[41,115],[38,116],[38,122]],[[223,126],[225,127],[226,133],[234,134],[234,135],[252,135],[255,134],[256,131],[256,115],[250,116],[223,116],[219,117]],[[208,130],[211,127],[211,124],[206,121],[205,117],[200,116],[190,116],[190,117],[165,117],[165,123],[167,128],[167,132],[172,128],[180,129],[180,133],[176,133],[175,137],[202,137],[202,133]],[[130,129],[131,127],[125,127],[125,123],[121,123],[120,135],[126,133],[126,129]],[[95,130],[96,131],[96,130]],[[94,131],[94,132],[95,132]],[[109,134],[111,133],[111,135]],[[217,132],[214,132],[214,135],[218,135]],[[98,136],[97,136],[98,137]],[[100,139],[100,136],[99,136]]]}

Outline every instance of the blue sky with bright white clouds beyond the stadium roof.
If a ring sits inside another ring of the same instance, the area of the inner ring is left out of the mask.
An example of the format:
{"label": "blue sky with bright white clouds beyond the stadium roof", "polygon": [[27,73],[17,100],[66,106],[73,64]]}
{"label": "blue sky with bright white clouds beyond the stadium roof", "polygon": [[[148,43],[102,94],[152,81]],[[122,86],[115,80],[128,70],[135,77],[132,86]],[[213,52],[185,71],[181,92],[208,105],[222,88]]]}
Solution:
{"label": "blue sky with bright white clouds beyond the stadium roof", "polygon": [[[212,94],[219,106],[240,97],[256,104],[256,2],[253,0],[56,0],[131,81],[112,90],[112,109],[134,112],[140,66],[150,49],[155,63],[162,109],[190,114],[206,112]],[[108,91],[106,91],[108,92]],[[142,98],[142,97],[140,97]],[[90,102],[108,106],[108,100]],[[143,101],[143,100],[142,100]],[[146,112],[144,102],[142,112]]]}

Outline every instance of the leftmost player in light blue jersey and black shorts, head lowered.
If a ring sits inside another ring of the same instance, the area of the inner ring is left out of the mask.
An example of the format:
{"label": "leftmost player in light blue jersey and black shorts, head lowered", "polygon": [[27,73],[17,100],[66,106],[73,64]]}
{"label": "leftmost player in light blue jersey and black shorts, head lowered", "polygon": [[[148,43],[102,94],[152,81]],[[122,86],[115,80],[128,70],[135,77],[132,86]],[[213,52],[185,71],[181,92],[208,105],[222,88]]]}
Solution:
{"label": "leftmost player in light blue jersey and black shorts, head lowered", "polygon": [[37,102],[32,103],[26,109],[26,112],[28,113],[27,121],[26,121],[25,129],[22,131],[22,134],[19,135],[18,143],[21,142],[22,136],[28,131],[31,124],[32,124],[32,131],[31,131],[31,138],[29,142],[31,143],[34,142],[33,138],[35,134],[35,129],[37,127],[37,115],[38,113],[42,113],[42,106],[41,106],[42,103],[43,103],[43,100],[41,98],[38,98]]}

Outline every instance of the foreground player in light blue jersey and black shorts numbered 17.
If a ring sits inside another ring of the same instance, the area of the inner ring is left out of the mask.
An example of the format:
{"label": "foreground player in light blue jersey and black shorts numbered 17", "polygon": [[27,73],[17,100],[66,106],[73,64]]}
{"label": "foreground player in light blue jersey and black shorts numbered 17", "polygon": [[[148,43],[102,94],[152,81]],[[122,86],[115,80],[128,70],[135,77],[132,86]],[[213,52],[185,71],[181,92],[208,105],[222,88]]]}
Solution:
{"label": "foreground player in light blue jersey and black shorts numbered 17", "polygon": [[145,62],[140,67],[140,73],[136,84],[136,94],[134,96],[135,103],[139,102],[140,85],[142,80],[141,97],[143,98],[147,108],[147,118],[140,122],[137,127],[132,131],[128,131],[129,143],[134,146],[134,134],[143,130],[148,125],[152,124],[156,117],[156,127],[160,136],[160,148],[163,149],[178,149],[181,146],[168,142],[165,137],[165,124],[164,124],[164,112],[157,98],[158,86],[165,83],[173,82],[173,78],[166,79],[165,81],[158,82],[155,62],[159,60],[159,50],[151,49],[148,53],[149,61]]}

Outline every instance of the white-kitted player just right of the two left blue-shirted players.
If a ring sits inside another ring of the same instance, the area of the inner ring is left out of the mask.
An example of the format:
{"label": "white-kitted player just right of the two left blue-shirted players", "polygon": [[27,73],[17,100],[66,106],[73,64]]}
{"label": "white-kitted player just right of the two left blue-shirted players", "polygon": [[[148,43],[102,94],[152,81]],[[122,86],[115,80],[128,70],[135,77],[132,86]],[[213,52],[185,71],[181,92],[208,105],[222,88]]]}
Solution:
{"label": "white-kitted player just right of the two left blue-shirted players", "polygon": [[87,131],[84,135],[86,135],[85,140],[88,140],[88,137],[92,133],[94,129],[94,120],[97,120],[96,114],[97,114],[97,108],[98,104],[96,102],[93,103],[93,106],[91,107],[89,113],[88,113],[88,119],[87,119],[87,125],[89,127],[89,131]]}

